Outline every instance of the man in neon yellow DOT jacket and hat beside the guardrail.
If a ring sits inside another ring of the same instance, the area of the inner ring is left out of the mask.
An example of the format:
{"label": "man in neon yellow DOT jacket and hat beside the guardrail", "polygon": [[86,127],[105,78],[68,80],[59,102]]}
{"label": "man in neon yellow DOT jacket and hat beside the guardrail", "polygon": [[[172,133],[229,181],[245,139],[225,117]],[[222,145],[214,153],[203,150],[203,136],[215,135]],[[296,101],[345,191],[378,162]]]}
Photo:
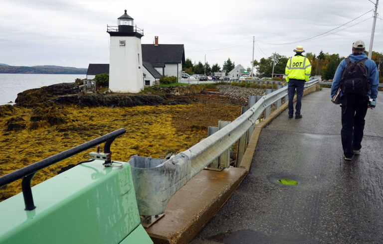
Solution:
{"label": "man in neon yellow DOT jacket and hat beside the guardrail", "polygon": [[302,96],[305,82],[311,74],[311,64],[308,58],[302,55],[305,52],[302,46],[294,49],[295,56],[290,58],[286,64],[286,82],[288,84],[287,94],[289,96],[289,118],[294,115],[294,93],[297,89],[297,104],[295,105],[295,119],[301,119]]}

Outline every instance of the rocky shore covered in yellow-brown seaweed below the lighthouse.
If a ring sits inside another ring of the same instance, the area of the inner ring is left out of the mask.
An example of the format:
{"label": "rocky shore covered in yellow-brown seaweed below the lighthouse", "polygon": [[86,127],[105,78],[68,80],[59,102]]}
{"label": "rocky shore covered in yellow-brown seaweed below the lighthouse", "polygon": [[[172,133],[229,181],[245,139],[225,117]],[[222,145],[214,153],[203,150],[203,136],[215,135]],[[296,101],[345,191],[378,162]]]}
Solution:
{"label": "rocky shore covered in yellow-brown seaweed below the lighthouse", "polygon": [[[121,127],[127,132],[113,142],[113,160],[128,161],[135,154],[164,158],[205,138],[208,126],[235,120],[249,95],[264,93],[263,89],[230,85],[205,88],[191,85],[153,88],[141,94],[85,94],[78,85],[65,83],[19,93],[16,105],[0,106],[0,147],[4,148],[0,176]],[[32,185],[86,160],[94,150],[38,171]],[[20,191],[19,181],[3,186],[0,201]]]}

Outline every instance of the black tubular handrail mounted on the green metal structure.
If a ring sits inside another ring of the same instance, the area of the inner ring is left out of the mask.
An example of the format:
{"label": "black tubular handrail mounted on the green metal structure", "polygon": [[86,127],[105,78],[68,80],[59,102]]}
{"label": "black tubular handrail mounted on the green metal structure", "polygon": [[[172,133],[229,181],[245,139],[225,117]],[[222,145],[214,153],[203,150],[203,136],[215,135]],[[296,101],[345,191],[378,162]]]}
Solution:
{"label": "black tubular handrail mounted on the green metal structure", "polygon": [[24,196],[24,202],[25,202],[25,210],[33,210],[36,207],[33,204],[33,197],[32,197],[32,191],[30,188],[30,181],[32,180],[32,177],[34,174],[45,167],[48,167],[54,163],[57,163],[61,160],[64,160],[65,158],[71,157],[77,153],[80,153],[82,151],[85,151],[91,147],[94,147],[102,142],[105,142],[104,144],[104,152],[110,153],[110,146],[114,139],[125,133],[125,128],[117,129],[113,132],[110,132],[108,134],[102,135],[100,137],[97,137],[93,140],[90,140],[88,142],[82,143],[78,146],[72,147],[66,151],[57,153],[56,155],[53,155],[51,157],[47,157],[43,160],[40,160],[38,162],[35,162],[33,164],[30,164],[28,166],[25,166],[21,169],[18,169],[16,171],[13,171],[9,174],[6,174],[4,176],[0,177],[0,187],[6,184],[9,184],[15,180],[18,180],[20,178],[22,179],[21,185],[22,185],[22,193]]}

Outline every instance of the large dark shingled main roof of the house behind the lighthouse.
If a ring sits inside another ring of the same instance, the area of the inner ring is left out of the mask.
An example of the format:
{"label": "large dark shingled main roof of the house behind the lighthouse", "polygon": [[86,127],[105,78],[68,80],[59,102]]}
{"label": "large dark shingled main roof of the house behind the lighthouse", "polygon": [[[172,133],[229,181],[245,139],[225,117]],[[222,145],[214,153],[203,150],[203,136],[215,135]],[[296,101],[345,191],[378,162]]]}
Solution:
{"label": "large dark shingled main roof of the house behind the lighthouse", "polygon": [[165,63],[185,64],[184,44],[142,44],[142,61],[154,67],[164,67]]}

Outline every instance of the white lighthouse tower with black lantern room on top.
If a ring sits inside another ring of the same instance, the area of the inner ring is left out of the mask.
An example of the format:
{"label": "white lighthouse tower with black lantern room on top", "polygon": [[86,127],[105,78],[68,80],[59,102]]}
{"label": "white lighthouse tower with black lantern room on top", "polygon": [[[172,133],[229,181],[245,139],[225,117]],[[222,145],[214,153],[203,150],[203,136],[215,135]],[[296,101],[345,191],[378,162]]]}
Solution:
{"label": "white lighthouse tower with black lantern room on top", "polygon": [[126,13],[118,26],[108,26],[110,34],[109,89],[112,92],[137,93],[144,88],[141,37],[144,31],[133,26]]}

